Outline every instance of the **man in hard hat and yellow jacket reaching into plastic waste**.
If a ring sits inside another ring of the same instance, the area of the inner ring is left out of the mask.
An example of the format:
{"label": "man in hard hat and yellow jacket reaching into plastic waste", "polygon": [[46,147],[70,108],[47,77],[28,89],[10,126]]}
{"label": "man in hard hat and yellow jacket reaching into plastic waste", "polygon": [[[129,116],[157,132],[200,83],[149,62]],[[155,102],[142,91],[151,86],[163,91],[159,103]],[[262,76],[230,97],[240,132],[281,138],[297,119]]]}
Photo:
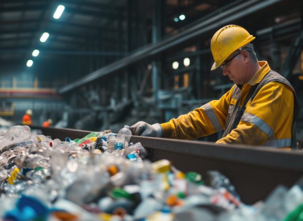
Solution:
{"label": "man in hard hat and yellow jacket reaching into plastic waste", "polygon": [[258,61],[250,43],[254,39],[237,25],[219,29],[211,40],[215,60],[211,70],[222,68],[223,75],[234,82],[231,89],[219,100],[167,123],[137,122],[130,127],[133,135],[196,139],[224,130],[217,144],[295,148],[294,89],[266,61]]}

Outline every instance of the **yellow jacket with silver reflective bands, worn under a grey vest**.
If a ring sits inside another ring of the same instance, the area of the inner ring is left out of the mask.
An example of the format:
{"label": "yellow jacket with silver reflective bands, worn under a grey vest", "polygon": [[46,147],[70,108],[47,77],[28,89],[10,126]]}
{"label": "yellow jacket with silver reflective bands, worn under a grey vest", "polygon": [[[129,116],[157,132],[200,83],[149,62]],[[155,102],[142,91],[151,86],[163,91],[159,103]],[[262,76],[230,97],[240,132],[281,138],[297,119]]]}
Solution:
{"label": "yellow jacket with silver reflective bands, worn under a grey vest", "polygon": [[[250,88],[260,83],[270,71],[267,62],[259,62],[262,67],[241,89],[240,103],[243,102]],[[196,139],[207,136],[225,128],[228,108],[236,104],[232,92],[236,85],[219,100],[194,109],[177,119],[161,124],[163,135],[167,138]],[[286,84],[270,82],[264,85],[255,98],[246,104],[245,113],[251,119],[239,122],[226,137],[219,139],[218,144],[249,144],[276,147],[290,147],[294,112],[293,90]]]}

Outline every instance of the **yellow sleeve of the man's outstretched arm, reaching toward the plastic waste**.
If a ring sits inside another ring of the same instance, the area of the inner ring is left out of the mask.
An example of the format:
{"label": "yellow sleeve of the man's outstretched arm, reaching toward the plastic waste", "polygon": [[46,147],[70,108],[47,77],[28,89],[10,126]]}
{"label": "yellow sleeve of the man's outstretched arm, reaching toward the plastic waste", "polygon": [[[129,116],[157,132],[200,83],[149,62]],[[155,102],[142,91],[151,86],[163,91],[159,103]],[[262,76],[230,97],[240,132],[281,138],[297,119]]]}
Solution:
{"label": "yellow sleeve of the man's outstretched arm, reaching toward the plastic waste", "polygon": [[223,130],[234,86],[219,100],[212,100],[188,114],[161,124],[163,137],[195,139]]}

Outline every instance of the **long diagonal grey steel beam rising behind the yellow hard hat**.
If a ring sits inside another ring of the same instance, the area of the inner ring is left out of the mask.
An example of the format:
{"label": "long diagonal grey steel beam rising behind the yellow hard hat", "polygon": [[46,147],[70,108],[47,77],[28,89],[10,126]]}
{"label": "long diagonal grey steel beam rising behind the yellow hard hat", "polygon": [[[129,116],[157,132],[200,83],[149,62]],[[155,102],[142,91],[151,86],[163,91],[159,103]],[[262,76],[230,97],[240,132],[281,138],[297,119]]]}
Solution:
{"label": "long diagonal grey steel beam rising behind the yellow hard hat", "polygon": [[185,41],[189,41],[193,38],[201,36],[202,34],[208,32],[208,31],[214,30],[216,28],[219,28],[226,23],[229,23],[236,19],[242,18],[246,15],[249,15],[260,9],[263,9],[263,8],[266,8],[273,4],[276,4],[280,1],[281,0],[265,0],[265,1],[250,0],[250,1],[246,1],[242,4],[239,4],[237,6],[234,6],[224,12],[220,11],[220,9],[219,9],[217,15],[215,15],[211,18],[208,18],[206,20],[202,20],[200,23],[198,23],[174,36],[164,39],[158,43],[145,45],[141,49],[136,50],[133,53],[131,53],[129,56],[127,56],[121,60],[118,60],[117,62],[114,62],[104,68],[98,69],[98,70],[84,76],[83,78],[78,79],[75,82],[69,83],[68,85],[62,87],[59,90],[59,93],[61,93],[61,94],[66,93],[79,86],[92,82],[92,81],[96,80],[97,78],[100,78],[105,75],[116,72],[118,70],[121,70],[121,69],[129,66],[130,64],[134,64],[143,59],[155,56],[156,54],[159,54],[169,48],[180,45],[181,43],[184,43]]}

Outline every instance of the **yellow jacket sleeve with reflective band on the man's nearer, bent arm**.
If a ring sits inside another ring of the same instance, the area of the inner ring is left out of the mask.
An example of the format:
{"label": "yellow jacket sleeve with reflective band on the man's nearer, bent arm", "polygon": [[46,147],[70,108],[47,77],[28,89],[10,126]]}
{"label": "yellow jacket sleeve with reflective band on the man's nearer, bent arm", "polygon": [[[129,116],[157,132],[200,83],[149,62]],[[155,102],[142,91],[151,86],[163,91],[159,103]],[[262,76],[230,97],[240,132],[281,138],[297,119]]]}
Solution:
{"label": "yellow jacket sleeve with reflective band on the man's nearer, bent arm", "polygon": [[275,139],[279,147],[289,146],[293,118],[293,92],[282,83],[263,86],[256,97],[246,105],[238,126],[218,144],[264,145]]}

